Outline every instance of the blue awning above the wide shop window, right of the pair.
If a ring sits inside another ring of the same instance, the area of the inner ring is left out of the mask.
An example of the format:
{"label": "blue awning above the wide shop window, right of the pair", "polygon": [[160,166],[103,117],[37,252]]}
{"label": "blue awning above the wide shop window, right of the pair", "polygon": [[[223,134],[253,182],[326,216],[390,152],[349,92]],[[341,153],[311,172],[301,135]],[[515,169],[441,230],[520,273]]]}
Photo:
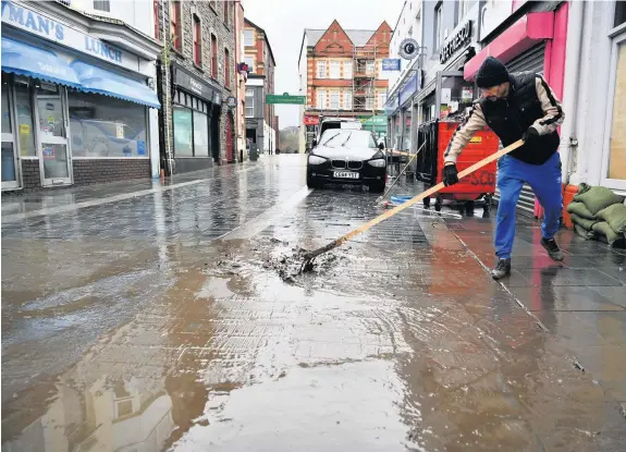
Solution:
{"label": "blue awning above the wide shop window, right of the pair", "polygon": [[147,85],[122,77],[113,72],[96,68],[83,61],[74,61],[72,69],[81,82],[78,89],[83,91],[97,93],[152,108],[161,108],[157,93],[151,90]]}

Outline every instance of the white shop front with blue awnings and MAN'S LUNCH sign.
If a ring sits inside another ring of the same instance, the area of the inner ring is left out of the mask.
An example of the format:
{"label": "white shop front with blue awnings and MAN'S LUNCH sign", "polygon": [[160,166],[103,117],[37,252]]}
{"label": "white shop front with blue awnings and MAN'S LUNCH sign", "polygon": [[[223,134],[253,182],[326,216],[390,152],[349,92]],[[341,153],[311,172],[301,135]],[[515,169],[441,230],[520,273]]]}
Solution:
{"label": "white shop front with blue awnings and MAN'S LUNCH sign", "polygon": [[2,191],[149,178],[149,71],[67,17],[2,2]]}

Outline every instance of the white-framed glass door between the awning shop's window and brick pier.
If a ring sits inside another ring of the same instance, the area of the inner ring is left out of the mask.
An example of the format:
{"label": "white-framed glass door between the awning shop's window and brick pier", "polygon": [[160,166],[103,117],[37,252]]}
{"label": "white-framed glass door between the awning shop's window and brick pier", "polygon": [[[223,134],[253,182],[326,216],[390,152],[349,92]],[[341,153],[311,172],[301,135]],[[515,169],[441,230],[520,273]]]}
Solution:
{"label": "white-framed glass door between the awning shop's window and brick pier", "polygon": [[42,186],[72,184],[65,102],[65,89],[59,85],[40,82],[37,86],[35,91],[37,154]]}

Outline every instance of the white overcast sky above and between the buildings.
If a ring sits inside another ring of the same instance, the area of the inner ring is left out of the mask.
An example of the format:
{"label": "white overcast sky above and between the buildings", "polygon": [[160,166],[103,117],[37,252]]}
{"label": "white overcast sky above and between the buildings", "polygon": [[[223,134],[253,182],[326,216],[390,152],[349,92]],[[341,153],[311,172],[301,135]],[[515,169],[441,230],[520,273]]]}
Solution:
{"label": "white overcast sky above and between the buildings", "polygon": [[[305,28],[330,26],[376,29],[386,21],[393,28],[404,0],[243,0],[245,16],[268,34],[274,59],[275,93],[298,94],[298,57]],[[299,125],[298,106],[277,106],[280,127]]]}

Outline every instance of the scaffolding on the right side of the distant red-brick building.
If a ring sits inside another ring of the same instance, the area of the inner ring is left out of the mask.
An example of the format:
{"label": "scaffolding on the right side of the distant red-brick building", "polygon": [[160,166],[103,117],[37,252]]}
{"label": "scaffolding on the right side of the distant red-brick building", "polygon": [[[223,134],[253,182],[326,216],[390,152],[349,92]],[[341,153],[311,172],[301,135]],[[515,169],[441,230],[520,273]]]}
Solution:
{"label": "scaffolding on the right side of the distant red-brick building", "polygon": [[352,101],[353,111],[376,115],[376,59],[378,45],[355,47],[353,52]]}

